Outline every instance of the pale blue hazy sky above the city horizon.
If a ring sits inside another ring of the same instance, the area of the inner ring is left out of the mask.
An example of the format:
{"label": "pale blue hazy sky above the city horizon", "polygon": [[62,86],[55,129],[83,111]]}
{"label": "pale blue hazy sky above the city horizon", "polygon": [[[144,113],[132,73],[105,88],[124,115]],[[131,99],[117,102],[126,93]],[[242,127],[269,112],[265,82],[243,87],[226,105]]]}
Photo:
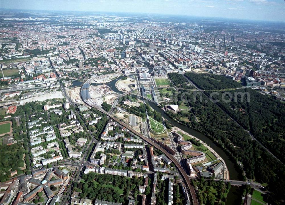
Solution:
{"label": "pale blue hazy sky above the city horizon", "polygon": [[284,0],[0,0],[0,8],[161,13],[285,22]]}

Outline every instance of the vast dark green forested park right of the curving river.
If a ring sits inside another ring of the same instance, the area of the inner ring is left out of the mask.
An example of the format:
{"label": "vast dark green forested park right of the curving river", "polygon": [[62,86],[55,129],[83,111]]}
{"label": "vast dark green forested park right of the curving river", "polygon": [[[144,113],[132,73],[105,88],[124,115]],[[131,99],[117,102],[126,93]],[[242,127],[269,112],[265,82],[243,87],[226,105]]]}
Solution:
{"label": "vast dark green forested park right of the curving river", "polygon": [[[190,79],[193,80],[192,73],[187,73],[186,75],[188,75],[188,77],[190,76]],[[197,74],[194,76],[196,77],[196,75]],[[225,80],[224,83],[224,81],[219,81],[220,77],[213,76],[215,75],[211,75],[210,78],[213,79],[207,80],[205,84],[200,85],[197,81],[195,83],[199,84],[199,88],[205,90],[239,87],[239,84],[236,84],[236,82],[232,80],[232,82],[228,82],[229,79],[226,78],[227,80]],[[205,78],[209,77],[205,76]],[[199,82],[204,81],[200,79]],[[205,86],[207,84],[210,85]],[[234,104],[230,102],[226,104],[221,102],[219,105],[222,105],[221,107],[223,107],[223,109],[225,107],[225,110],[233,119],[236,119],[240,123],[243,121],[241,125],[245,126],[245,128],[249,126],[250,131],[257,134],[258,140],[267,140],[269,148],[272,146],[272,149],[276,149],[276,153],[279,152],[279,154],[283,154],[284,150],[281,151],[283,143],[278,142],[282,141],[284,136],[284,125],[282,125],[284,121],[284,107],[281,108],[284,105],[281,102],[269,99],[267,96],[262,96],[254,90],[246,89],[246,91],[250,92],[250,103],[246,103],[245,100],[245,103],[238,102]],[[179,113],[169,111],[167,112],[168,115],[178,121],[181,121],[181,118],[188,118],[189,122],[181,122],[205,134],[217,142],[233,159],[241,161],[246,176],[249,179],[255,179],[261,183],[268,183],[267,188],[271,192],[268,197],[269,202],[278,204],[278,201],[284,199],[284,194],[282,194],[285,191],[284,165],[262,148],[258,142],[252,140],[251,136],[237,125],[237,123],[231,120],[215,103],[211,101],[205,102],[207,97],[204,94],[201,93],[201,96],[195,95],[193,92],[189,92],[189,90],[188,92],[187,90],[181,90],[181,92],[183,92],[183,97],[181,97],[182,94],[179,93],[178,99],[184,99],[184,104],[188,105],[190,109],[180,111]],[[206,91],[205,93],[209,94],[210,92],[211,91]],[[200,100],[201,97],[203,100]],[[221,95],[215,97],[219,98]],[[242,111],[237,111],[239,108],[241,108]],[[195,117],[200,119],[199,123],[195,120]],[[268,140],[272,140],[273,142]]]}

